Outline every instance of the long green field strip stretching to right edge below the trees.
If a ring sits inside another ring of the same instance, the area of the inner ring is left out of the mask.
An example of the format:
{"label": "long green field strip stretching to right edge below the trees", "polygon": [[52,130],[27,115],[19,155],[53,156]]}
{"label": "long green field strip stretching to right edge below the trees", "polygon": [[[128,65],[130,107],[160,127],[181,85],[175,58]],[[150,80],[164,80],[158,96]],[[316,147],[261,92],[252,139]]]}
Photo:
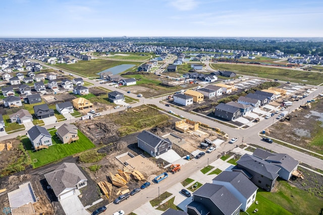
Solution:
{"label": "long green field strip stretching to right edge below the trees", "polygon": [[[291,81],[296,83],[318,85],[323,83],[323,74],[308,71],[291,69],[280,69],[272,67],[249,66],[240,64],[210,64],[215,70],[229,70],[239,75],[250,75],[268,79],[278,79],[280,81]],[[303,80],[307,80],[303,82]]]}

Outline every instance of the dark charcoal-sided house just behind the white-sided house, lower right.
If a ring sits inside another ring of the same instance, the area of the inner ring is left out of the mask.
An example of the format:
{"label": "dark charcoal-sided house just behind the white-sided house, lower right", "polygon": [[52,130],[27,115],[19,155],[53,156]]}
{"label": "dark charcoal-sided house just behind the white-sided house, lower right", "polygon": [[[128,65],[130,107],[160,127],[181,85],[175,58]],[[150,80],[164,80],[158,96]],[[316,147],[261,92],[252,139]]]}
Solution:
{"label": "dark charcoal-sided house just behind the white-sided house, lower right", "polygon": [[258,187],[271,191],[279,177],[278,172],[281,168],[256,156],[244,154],[232,170],[243,173]]}

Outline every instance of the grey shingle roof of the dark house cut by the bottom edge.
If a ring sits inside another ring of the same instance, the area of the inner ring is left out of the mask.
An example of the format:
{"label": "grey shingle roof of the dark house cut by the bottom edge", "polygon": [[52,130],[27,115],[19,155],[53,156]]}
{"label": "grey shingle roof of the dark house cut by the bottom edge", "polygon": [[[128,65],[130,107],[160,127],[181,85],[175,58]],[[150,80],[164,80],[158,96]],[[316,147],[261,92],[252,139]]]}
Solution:
{"label": "grey shingle roof of the dark house cut by the bottom edge", "polygon": [[240,201],[225,187],[206,183],[193,193],[209,198],[224,214],[232,214],[240,207]]}

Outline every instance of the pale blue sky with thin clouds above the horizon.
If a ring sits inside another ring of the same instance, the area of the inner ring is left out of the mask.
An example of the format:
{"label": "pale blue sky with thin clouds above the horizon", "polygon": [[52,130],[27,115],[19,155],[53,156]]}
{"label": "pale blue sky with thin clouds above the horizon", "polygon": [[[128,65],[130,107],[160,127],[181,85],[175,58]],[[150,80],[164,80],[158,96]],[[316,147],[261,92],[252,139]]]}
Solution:
{"label": "pale blue sky with thin clouds above the horizon", "polygon": [[0,37],[323,37],[322,0],[5,0]]}

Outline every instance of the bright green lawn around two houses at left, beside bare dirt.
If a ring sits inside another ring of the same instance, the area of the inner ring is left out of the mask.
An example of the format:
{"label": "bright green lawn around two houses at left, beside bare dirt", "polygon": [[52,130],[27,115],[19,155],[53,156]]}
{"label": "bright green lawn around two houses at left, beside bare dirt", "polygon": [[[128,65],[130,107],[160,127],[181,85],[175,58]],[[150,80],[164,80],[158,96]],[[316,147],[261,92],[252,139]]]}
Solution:
{"label": "bright green lawn around two houses at left, beside bare dirt", "polygon": [[[56,130],[52,130],[49,133],[52,135]],[[79,140],[71,144],[62,144],[61,141],[55,136],[52,137],[52,146],[48,149],[44,148],[39,151],[32,151],[31,142],[28,138],[23,139],[22,143],[27,149],[31,160],[37,159],[36,163],[33,163],[33,168],[38,168],[52,162],[56,162],[64,157],[73,155],[85,151],[90,148],[94,148],[95,145],[80,131],[78,131]]]}

